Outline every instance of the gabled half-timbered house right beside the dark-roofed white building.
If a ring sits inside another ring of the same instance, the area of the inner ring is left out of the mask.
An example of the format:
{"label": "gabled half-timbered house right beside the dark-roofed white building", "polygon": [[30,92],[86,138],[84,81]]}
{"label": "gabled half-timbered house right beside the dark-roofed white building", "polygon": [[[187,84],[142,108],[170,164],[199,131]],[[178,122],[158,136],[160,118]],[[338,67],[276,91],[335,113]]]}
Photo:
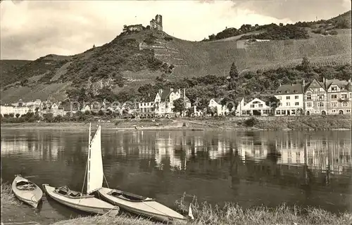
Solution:
{"label": "gabled half-timbered house right beside the dark-roofed white building", "polygon": [[313,79],[305,86],[304,100],[306,104],[306,115],[327,115],[327,91],[325,79],[319,82]]}

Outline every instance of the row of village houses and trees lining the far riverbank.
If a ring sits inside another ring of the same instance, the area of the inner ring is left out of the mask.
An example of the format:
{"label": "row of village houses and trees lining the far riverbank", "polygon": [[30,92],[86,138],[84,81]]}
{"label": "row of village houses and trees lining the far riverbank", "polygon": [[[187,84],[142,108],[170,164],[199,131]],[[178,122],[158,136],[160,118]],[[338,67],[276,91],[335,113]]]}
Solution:
{"label": "row of village houses and trees lining the far riverbank", "polygon": [[[198,109],[191,105],[185,94],[185,89],[160,89],[156,96],[150,96],[139,102],[107,103],[72,103],[36,99],[1,105],[3,117],[21,117],[27,113],[38,113],[40,117],[51,115],[63,117],[73,113],[106,113],[123,117],[202,117],[202,116],[300,116],[300,115],[351,115],[352,84],[351,79],[323,79],[305,84],[283,84],[275,91],[274,101],[265,102],[254,98],[245,102],[238,98],[234,103],[224,101],[224,98],[211,98],[208,107]],[[201,96],[199,96],[201,98]],[[175,108],[174,102],[181,100]],[[234,105],[237,105],[234,108]],[[180,111],[181,109],[181,111]],[[207,111],[208,109],[208,111]]]}

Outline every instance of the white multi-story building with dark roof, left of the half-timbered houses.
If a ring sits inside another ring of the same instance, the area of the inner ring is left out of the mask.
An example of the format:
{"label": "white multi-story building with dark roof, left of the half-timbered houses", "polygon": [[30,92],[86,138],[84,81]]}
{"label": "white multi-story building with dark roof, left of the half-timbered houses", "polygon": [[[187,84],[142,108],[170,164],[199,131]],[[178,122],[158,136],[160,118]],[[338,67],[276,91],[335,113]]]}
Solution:
{"label": "white multi-story building with dark roof, left of the half-timbered houses", "polygon": [[[304,84],[303,84],[304,85]],[[275,91],[275,97],[279,99],[279,105],[275,115],[301,115],[304,112],[303,85],[285,84],[279,86]],[[272,105],[269,105],[270,107]]]}

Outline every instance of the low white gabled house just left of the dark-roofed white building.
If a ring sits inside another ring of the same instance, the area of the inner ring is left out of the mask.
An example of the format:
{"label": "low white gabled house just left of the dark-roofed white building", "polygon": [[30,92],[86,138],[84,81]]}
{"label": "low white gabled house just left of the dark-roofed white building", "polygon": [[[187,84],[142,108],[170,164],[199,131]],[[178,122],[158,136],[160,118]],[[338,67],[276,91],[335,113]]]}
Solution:
{"label": "low white gabled house just left of the dark-roofed white building", "polygon": [[272,108],[266,105],[264,101],[259,98],[254,98],[249,103],[244,102],[244,98],[241,99],[237,105],[236,115],[239,116],[251,116],[251,115],[271,115]]}

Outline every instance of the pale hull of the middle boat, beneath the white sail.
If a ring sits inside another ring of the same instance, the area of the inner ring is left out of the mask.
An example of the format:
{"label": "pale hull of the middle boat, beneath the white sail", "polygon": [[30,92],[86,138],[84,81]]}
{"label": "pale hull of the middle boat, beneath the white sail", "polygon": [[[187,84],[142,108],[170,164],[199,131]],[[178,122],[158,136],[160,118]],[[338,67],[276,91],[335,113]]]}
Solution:
{"label": "pale hull of the middle boat, beneath the white sail", "polygon": [[44,191],[58,203],[72,207],[76,210],[81,210],[83,212],[88,212],[92,214],[106,214],[110,212],[111,214],[118,214],[119,207],[106,203],[103,200],[94,198],[94,196],[82,197],[82,198],[69,198],[65,195],[55,193],[55,188],[49,186],[48,184],[43,184]]}

